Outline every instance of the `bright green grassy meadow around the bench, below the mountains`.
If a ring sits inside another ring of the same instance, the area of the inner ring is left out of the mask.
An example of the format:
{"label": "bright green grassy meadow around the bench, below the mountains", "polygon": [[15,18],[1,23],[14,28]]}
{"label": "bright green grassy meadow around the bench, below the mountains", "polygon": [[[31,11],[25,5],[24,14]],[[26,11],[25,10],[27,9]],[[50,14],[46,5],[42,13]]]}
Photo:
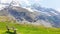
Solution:
{"label": "bright green grassy meadow around the bench, below the mountains", "polygon": [[31,24],[18,24],[11,22],[0,22],[0,34],[13,34],[13,31],[7,32],[6,25],[15,27],[17,34],[60,34],[60,28],[45,28]]}

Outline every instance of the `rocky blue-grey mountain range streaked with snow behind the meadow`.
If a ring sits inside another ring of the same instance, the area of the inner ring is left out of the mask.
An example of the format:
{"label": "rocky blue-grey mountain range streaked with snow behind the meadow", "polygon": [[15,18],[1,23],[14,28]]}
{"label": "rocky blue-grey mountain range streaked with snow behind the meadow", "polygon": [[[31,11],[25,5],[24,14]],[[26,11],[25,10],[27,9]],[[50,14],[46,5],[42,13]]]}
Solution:
{"label": "rocky blue-grey mountain range streaked with snow behind the meadow", "polygon": [[[25,4],[24,4],[25,5]],[[45,27],[60,27],[59,11],[41,7],[38,4],[15,6],[11,2],[8,6],[0,10],[0,16],[13,16],[18,22],[44,25]]]}

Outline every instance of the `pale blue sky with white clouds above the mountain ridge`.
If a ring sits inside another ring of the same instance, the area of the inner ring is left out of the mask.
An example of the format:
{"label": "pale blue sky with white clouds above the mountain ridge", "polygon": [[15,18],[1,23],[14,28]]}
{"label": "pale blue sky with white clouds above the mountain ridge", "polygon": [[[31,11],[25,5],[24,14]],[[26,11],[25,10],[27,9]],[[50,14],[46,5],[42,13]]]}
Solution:
{"label": "pale blue sky with white clouds above the mountain ridge", "polygon": [[[12,0],[0,0],[0,1],[2,3],[9,3]],[[60,0],[17,0],[17,1],[22,3],[22,5],[24,4],[30,5],[29,3],[33,4],[33,2],[36,2],[37,4],[39,3],[43,7],[53,8],[60,11]]]}

